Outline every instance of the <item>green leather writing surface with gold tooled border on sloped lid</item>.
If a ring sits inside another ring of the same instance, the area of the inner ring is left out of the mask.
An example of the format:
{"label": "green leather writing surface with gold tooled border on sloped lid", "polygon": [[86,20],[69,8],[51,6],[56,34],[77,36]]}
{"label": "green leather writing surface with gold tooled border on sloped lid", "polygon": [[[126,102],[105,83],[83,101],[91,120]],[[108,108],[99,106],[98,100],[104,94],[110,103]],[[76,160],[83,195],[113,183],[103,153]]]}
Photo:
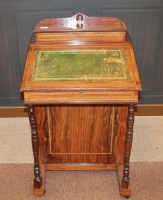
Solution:
{"label": "green leather writing surface with gold tooled border on sloped lid", "polygon": [[125,50],[37,50],[32,81],[129,80]]}

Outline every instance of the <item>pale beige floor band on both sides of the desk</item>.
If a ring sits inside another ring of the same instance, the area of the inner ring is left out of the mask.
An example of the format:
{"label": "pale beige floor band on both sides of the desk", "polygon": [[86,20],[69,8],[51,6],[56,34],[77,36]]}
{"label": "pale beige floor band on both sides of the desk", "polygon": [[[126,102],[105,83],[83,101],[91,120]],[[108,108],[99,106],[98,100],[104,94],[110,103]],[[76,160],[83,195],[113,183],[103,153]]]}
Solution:
{"label": "pale beige floor band on both sides of the desk", "polygon": [[[0,118],[0,163],[33,163],[28,118]],[[131,162],[163,161],[163,116],[135,117]]]}

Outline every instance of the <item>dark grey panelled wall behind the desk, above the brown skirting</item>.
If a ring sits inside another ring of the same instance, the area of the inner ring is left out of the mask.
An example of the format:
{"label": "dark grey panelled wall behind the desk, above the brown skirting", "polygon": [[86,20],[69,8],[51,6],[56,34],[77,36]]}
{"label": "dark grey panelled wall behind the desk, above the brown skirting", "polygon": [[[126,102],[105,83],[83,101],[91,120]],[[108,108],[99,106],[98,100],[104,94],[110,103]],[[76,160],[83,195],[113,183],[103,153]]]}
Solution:
{"label": "dark grey panelled wall behind the desk, above the brown skirting", "polygon": [[131,35],[143,104],[163,104],[163,0],[0,0],[0,106],[21,106],[19,92],[28,43],[43,18],[117,16]]}

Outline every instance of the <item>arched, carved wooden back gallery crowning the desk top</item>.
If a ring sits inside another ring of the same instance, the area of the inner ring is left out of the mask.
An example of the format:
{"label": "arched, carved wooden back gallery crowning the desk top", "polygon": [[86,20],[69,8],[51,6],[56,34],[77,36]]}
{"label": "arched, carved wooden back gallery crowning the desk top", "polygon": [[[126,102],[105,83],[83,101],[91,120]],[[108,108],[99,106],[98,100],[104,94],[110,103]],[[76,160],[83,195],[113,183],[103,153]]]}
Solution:
{"label": "arched, carved wooden back gallery crowning the desk top", "polygon": [[78,13],[69,18],[41,20],[35,32],[44,31],[121,31],[126,32],[126,24],[116,17],[88,17]]}

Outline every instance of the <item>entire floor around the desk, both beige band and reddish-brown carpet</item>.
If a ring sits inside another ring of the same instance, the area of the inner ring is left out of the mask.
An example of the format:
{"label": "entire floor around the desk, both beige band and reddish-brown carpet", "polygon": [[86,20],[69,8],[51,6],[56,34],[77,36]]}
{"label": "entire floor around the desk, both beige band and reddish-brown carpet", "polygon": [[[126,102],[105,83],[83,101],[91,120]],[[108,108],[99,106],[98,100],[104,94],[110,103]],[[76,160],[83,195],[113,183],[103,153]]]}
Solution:
{"label": "entire floor around the desk, both beige band and reddish-brown carpet", "polygon": [[[108,171],[47,172],[45,196],[34,197],[28,119],[1,118],[0,138],[0,200],[124,199],[116,173]],[[131,200],[163,200],[163,116],[136,117],[131,184]]]}

